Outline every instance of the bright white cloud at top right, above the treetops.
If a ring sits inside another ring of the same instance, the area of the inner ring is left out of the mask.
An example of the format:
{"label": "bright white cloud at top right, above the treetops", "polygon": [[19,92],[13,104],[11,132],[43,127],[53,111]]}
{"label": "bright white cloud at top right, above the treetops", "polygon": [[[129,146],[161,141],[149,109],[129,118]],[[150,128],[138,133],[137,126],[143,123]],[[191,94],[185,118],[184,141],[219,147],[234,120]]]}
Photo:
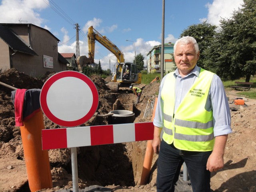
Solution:
{"label": "bright white cloud at top right, above the treetops", "polygon": [[[229,18],[234,10],[238,10],[243,4],[243,0],[214,0],[212,4],[206,4],[208,8],[207,22],[219,25],[221,18]],[[204,21],[206,18],[201,18]]]}

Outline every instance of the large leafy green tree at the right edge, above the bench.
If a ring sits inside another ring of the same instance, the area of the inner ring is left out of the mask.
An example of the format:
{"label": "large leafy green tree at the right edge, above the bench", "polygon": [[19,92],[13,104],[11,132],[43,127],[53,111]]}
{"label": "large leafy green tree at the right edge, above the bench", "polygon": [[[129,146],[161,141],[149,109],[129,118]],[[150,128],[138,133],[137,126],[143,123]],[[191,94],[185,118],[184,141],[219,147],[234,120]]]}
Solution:
{"label": "large leafy green tree at the right edge, above the bench", "polygon": [[242,8],[231,18],[220,20],[216,41],[207,51],[206,65],[219,76],[238,79],[256,73],[256,6],[255,0],[244,0]]}

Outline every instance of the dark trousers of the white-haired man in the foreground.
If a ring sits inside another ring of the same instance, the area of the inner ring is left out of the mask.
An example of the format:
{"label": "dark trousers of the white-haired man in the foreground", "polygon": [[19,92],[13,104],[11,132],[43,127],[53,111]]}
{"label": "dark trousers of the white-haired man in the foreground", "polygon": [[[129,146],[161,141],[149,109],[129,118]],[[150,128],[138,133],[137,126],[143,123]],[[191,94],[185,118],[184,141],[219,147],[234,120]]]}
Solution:
{"label": "dark trousers of the white-haired man in the foreground", "polygon": [[179,150],[162,140],[157,163],[157,192],[174,192],[180,168],[186,163],[193,192],[210,192],[210,171],[207,160],[212,152]]}

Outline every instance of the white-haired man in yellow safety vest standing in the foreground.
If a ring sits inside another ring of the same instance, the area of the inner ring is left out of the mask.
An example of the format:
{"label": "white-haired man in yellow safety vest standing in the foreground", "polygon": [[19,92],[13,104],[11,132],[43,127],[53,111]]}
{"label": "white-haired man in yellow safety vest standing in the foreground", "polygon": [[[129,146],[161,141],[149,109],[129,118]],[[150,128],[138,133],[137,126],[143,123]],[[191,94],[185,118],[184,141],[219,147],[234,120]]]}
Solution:
{"label": "white-haired man in yellow safety vest standing in the foreground", "polygon": [[193,192],[210,192],[210,172],[224,166],[224,149],[232,132],[228,100],[220,78],[196,65],[199,54],[193,37],[177,40],[177,69],[160,84],[152,142],[159,154],[157,192],[174,192],[183,162]]}

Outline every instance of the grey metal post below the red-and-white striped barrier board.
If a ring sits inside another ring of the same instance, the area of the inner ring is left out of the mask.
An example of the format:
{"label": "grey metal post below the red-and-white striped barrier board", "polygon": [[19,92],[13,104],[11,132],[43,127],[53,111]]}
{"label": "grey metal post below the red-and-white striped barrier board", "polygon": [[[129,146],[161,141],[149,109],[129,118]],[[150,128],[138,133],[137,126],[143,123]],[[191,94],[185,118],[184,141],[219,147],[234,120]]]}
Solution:
{"label": "grey metal post below the red-and-white striped barrier board", "polygon": [[73,192],[78,192],[78,171],[77,171],[76,147],[72,147],[70,149],[71,149]]}

